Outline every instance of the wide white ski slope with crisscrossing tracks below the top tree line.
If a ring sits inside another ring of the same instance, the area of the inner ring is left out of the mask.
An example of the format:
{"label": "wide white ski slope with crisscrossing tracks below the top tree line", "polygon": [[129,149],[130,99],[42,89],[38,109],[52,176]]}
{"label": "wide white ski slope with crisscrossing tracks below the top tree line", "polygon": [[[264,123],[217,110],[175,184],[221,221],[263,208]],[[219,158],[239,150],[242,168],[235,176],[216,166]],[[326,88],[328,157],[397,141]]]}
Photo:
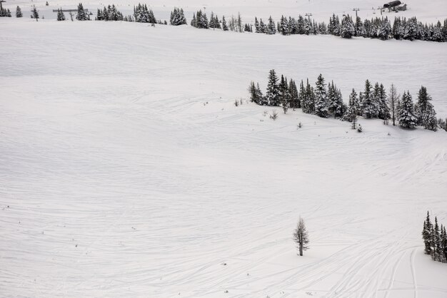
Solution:
{"label": "wide white ski slope with crisscrossing tracks below the top tree line", "polygon": [[233,105],[276,68],[446,115],[446,43],[0,21],[1,297],[447,297],[447,133]]}

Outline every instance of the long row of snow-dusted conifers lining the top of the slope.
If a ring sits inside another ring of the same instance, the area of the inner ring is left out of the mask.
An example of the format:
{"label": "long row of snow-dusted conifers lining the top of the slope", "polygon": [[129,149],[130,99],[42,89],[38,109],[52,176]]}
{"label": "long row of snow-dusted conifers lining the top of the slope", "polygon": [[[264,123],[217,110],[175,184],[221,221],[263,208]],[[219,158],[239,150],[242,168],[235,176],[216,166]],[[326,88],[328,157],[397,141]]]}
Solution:
{"label": "long row of snow-dusted conifers lining the top of the slope", "polygon": [[[60,16],[59,16],[60,14]],[[58,20],[64,21],[64,13],[58,11]],[[0,11],[0,16],[11,16],[9,9],[2,9]],[[19,6],[16,8],[16,17],[21,17],[21,9]],[[31,17],[37,16],[39,19],[38,12],[34,8]],[[78,14],[76,19],[79,21],[89,20],[89,15],[87,15],[82,7],[82,4],[78,6]],[[156,20],[154,12],[148,9],[146,4],[138,4],[134,6],[133,16],[123,16],[116,6],[104,6],[104,9],[98,9],[96,14],[96,20],[98,21],[136,21],[140,23],[151,23],[151,24],[168,24],[167,21]],[[173,26],[186,25],[187,21],[184,16],[184,10],[174,8],[171,11],[170,24]],[[351,38],[353,36],[362,36],[364,38],[379,38],[381,40],[387,39],[406,39],[406,40],[422,40],[422,41],[447,41],[447,19],[443,21],[438,21],[436,24],[423,24],[421,21],[413,16],[409,19],[401,18],[396,16],[391,24],[391,21],[387,16],[384,18],[371,18],[362,21],[360,17],[356,17],[356,21],[347,14],[342,17],[333,14],[328,21],[328,24],[321,22],[317,23],[311,20],[310,17],[298,15],[297,18],[291,16],[281,16],[281,20],[277,23],[273,21],[270,16],[266,22],[262,19],[255,17],[254,19],[254,29],[253,25],[248,23],[243,23],[241,14],[237,17],[231,16],[228,21],[225,16],[221,19],[214,12],[211,12],[211,16],[208,19],[206,13],[199,10],[194,13],[191,19],[191,26],[199,29],[222,29],[224,31],[235,31],[235,32],[255,32],[258,34],[282,34],[282,35],[293,35],[293,34],[306,34],[306,35],[316,35],[316,34],[331,34],[333,36],[341,36],[342,38]]]}

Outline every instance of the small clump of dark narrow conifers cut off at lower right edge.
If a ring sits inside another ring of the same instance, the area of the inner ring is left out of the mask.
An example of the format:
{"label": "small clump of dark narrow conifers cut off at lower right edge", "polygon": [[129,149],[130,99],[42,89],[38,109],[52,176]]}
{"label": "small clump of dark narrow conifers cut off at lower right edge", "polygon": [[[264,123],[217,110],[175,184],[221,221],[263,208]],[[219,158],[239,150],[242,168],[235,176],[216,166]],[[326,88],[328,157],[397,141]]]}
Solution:
{"label": "small clump of dark narrow conifers cut off at lower right edge", "polygon": [[424,252],[431,255],[434,261],[447,262],[447,233],[446,226],[438,225],[438,218],[435,217],[435,224],[430,220],[430,213],[427,211],[427,218],[423,221],[422,239],[425,245]]}

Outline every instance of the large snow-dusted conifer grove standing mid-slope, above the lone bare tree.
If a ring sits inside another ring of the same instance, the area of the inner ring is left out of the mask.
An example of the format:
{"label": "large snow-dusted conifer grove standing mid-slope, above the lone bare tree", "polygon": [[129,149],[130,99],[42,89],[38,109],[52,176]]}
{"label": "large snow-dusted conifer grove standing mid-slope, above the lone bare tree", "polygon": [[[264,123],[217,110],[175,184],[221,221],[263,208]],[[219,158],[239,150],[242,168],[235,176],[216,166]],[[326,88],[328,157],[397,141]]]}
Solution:
{"label": "large snow-dusted conifer grove standing mid-slope, above the lone bare tree", "polygon": [[321,74],[315,86],[311,86],[308,79],[306,85],[301,80],[298,90],[295,81],[288,82],[282,75],[279,79],[276,71],[272,69],[268,74],[265,96],[259,84],[253,81],[248,87],[248,92],[253,103],[261,106],[280,106],[284,113],[287,113],[288,108],[302,108],[303,113],[322,118],[333,116],[353,123],[356,123],[358,116],[363,116],[382,119],[385,124],[392,120],[393,125],[397,122],[403,128],[415,128],[416,125],[421,125],[428,130],[436,131],[439,127],[436,111],[431,104],[431,96],[424,86],[419,90],[417,103],[413,104],[409,91],[399,96],[396,87],[391,85],[387,94],[383,84],[376,83],[373,86],[366,80],[364,90],[357,93],[353,89],[346,105],[343,103],[340,89],[333,81],[326,86]]}

